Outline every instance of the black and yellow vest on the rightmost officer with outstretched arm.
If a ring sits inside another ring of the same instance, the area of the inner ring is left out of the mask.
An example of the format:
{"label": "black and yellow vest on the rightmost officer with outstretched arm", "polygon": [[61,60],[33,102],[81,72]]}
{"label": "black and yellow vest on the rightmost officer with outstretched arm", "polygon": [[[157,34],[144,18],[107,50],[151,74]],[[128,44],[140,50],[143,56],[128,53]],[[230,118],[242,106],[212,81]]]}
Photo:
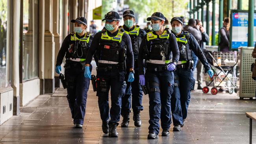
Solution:
{"label": "black and yellow vest on the rightmost officer with outstretched arm", "polygon": [[185,31],[184,35],[181,37],[176,36],[176,41],[180,50],[180,59],[179,61],[190,61],[192,58],[192,50],[189,48],[187,39],[189,39],[189,33]]}

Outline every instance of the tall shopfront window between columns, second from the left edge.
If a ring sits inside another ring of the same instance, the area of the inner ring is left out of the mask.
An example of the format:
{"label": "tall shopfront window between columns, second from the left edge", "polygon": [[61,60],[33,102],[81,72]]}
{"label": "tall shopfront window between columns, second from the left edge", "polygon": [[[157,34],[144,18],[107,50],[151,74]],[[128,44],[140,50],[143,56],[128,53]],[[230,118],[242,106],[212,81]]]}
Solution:
{"label": "tall shopfront window between columns, second from the left edge", "polygon": [[38,1],[23,0],[23,80],[38,77],[38,19]]}

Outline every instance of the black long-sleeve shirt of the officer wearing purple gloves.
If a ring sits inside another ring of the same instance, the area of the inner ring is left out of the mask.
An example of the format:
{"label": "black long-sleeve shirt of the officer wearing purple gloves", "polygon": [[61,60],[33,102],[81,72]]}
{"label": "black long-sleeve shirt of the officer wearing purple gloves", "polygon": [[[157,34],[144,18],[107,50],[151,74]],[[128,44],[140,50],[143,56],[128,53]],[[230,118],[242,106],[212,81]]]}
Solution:
{"label": "black long-sleeve shirt of the officer wearing purple gloves", "polygon": [[[153,31],[154,35],[157,35],[155,31]],[[178,44],[176,41],[176,37],[173,33],[169,34],[169,48],[171,48],[170,52],[173,53],[173,62],[178,63],[180,58],[180,51],[178,49]],[[143,70],[143,59],[145,59],[145,54],[143,48],[145,46],[150,46],[150,41],[147,41],[147,35],[144,36],[142,39],[140,49],[139,49],[139,55],[138,55],[138,66],[139,66],[139,75],[144,74]]]}

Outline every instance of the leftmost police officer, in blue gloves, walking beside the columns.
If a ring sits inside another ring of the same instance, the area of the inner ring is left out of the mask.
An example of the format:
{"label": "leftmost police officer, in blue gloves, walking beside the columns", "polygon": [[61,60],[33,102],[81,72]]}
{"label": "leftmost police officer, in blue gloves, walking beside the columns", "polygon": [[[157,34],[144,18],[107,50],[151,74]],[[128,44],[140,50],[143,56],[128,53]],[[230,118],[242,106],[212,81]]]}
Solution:
{"label": "leftmost police officer, in blue gloves, walking beside the columns", "polygon": [[[62,42],[56,61],[56,73],[61,72],[63,57],[66,58],[65,81],[67,83],[67,100],[69,102],[73,123],[76,128],[82,128],[85,116],[87,91],[90,79],[84,77],[85,58],[93,37],[86,33],[87,20],[78,17],[71,20],[75,24],[71,32]],[[90,65],[90,70],[92,66]]]}

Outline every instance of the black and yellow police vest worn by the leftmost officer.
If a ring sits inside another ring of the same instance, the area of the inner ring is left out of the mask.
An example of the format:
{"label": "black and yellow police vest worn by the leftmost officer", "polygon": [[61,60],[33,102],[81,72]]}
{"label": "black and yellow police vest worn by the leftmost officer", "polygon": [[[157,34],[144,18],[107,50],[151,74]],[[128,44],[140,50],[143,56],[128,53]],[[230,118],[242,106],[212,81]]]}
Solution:
{"label": "black and yellow police vest worn by the leftmost officer", "polygon": [[71,57],[69,60],[71,61],[85,61],[87,52],[89,50],[89,38],[91,36],[90,33],[85,33],[84,37],[81,39],[78,39],[76,37],[76,32],[71,32],[70,40],[72,41],[72,44],[70,44],[69,47],[69,53]]}

